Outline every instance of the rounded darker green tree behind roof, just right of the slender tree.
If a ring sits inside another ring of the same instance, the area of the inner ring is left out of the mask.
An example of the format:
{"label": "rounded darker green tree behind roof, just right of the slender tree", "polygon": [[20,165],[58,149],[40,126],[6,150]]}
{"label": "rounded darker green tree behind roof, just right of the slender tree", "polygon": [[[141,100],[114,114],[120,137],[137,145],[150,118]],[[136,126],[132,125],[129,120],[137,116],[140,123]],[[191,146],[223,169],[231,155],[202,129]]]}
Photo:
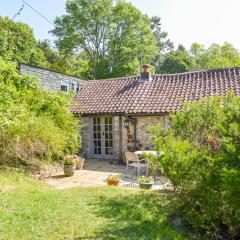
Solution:
{"label": "rounded darker green tree behind roof, just right of the slender tree", "polygon": [[194,58],[180,45],[177,50],[170,51],[161,66],[161,73],[181,73],[192,70]]}

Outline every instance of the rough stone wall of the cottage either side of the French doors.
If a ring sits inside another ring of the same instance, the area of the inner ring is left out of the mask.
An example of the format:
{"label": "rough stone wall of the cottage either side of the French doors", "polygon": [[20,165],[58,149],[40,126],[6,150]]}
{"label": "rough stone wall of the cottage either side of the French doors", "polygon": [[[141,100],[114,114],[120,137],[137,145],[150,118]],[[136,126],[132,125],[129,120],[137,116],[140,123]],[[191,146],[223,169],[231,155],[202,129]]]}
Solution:
{"label": "rough stone wall of the cottage either side of the French doors", "polygon": [[[118,162],[119,160],[125,160],[126,151],[135,150],[152,150],[154,149],[153,144],[150,142],[148,129],[152,125],[159,124],[164,129],[168,128],[168,117],[167,116],[134,116],[132,119],[137,120],[136,125],[136,143],[134,135],[134,124],[129,122],[129,127],[124,127],[124,121],[126,117],[122,117],[120,123],[120,117],[113,117],[113,148],[114,158]],[[82,117],[82,154],[86,159],[93,157],[91,152],[91,124],[92,117]],[[122,134],[122,141],[121,141]],[[120,142],[121,141],[121,142]],[[136,145],[136,146],[135,146]]]}

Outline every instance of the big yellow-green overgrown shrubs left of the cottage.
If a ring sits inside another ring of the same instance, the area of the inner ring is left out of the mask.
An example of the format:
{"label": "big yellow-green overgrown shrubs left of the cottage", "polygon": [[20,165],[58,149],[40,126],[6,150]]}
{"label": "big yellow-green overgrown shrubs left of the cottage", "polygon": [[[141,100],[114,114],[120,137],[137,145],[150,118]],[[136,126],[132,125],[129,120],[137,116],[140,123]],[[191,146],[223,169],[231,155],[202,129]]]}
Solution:
{"label": "big yellow-green overgrown shrubs left of the cottage", "polygon": [[59,160],[79,147],[78,122],[69,97],[45,91],[0,58],[0,164]]}

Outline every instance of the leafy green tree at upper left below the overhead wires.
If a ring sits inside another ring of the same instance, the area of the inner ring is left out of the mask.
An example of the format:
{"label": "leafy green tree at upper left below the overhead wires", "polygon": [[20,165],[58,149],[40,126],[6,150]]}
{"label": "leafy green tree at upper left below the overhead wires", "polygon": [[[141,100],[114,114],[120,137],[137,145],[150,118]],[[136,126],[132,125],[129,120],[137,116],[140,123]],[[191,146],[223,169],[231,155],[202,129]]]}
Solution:
{"label": "leafy green tree at upper left below the overhead wires", "polygon": [[6,60],[31,64],[45,61],[32,29],[4,17],[0,17],[0,56]]}

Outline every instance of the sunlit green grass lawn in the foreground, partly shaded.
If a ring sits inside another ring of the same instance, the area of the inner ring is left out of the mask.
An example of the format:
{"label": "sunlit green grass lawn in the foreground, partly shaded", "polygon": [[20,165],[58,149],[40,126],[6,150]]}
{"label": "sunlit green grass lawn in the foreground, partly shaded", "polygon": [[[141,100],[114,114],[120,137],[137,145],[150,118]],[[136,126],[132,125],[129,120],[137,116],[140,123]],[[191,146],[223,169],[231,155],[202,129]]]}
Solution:
{"label": "sunlit green grass lawn in the foreground, partly shaded", "polygon": [[0,172],[0,239],[187,239],[167,224],[166,202],[114,187],[55,190]]}

